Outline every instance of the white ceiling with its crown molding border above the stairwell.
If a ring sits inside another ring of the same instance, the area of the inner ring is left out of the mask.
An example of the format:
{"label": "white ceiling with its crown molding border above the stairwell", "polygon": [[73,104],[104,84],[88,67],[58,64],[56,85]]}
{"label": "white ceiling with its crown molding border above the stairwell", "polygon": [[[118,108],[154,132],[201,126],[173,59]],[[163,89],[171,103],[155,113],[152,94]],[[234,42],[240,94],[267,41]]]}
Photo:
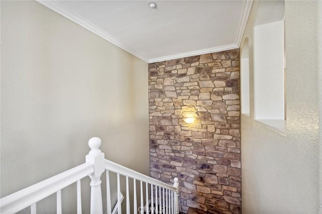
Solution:
{"label": "white ceiling with its crown molding border above the stairwell", "polygon": [[252,1],[38,1],[146,62],[238,48]]}

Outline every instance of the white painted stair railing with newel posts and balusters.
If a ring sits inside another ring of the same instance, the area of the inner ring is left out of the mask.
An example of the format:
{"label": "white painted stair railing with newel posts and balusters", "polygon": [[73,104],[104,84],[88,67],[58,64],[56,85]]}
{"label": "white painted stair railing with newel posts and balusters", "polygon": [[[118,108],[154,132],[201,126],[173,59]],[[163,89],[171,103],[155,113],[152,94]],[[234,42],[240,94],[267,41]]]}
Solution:
{"label": "white painted stair railing with newel posts and balusters", "polygon": [[[29,186],[25,189],[22,189],[18,192],[12,193],[6,197],[0,198],[0,212],[1,213],[16,213],[28,206],[31,205],[31,212],[36,213],[36,202],[41,199],[57,192],[57,213],[61,213],[61,189],[77,182],[77,194],[80,192],[78,188],[81,185],[79,180],[90,176],[91,178],[91,213],[103,214],[103,202],[102,202],[102,188],[101,188],[101,175],[107,169],[108,171],[116,172],[117,174],[117,183],[118,183],[118,200],[113,209],[113,214],[116,212],[122,212],[121,203],[124,199],[123,194],[120,191],[120,174],[134,178],[134,192],[136,191],[136,180],[139,180],[141,183],[141,207],[143,207],[143,193],[142,193],[142,182],[153,184],[161,187],[172,190],[178,195],[179,191],[179,179],[174,178],[174,184],[169,185],[163,183],[162,181],[156,180],[154,178],[148,177],[144,174],[136,172],[132,169],[126,168],[119,164],[116,164],[112,161],[104,159],[104,153],[100,150],[101,139],[98,137],[93,137],[89,140],[89,146],[91,151],[86,155],[86,163],[78,165],[72,169],[64,171],[60,174],[57,174],[53,177],[50,177],[46,180],[43,180],[39,183],[36,183],[32,186]],[[108,174],[107,174],[108,175]],[[108,180],[109,176],[107,176]],[[147,186],[147,185],[146,185]],[[107,189],[108,191],[108,189]],[[150,191],[153,191],[151,189]],[[127,186],[128,192],[128,186]],[[160,193],[159,193],[160,194]],[[109,194],[107,194],[109,195]],[[77,196],[78,200],[78,196]],[[127,198],[128,200],[128,198]],[[134,201],[136,200],[136,193]],[[161,201],[161,199],[160,199]],[[176,213],[179,213],[179,200],[176,198]],[[136,204],[136,202],[135,202]],[[147,202],[146,205],[148,205]],[[77,204],[78,205],[78,204]],[[134,205],[135,207],[135,205]],[[136,208],[135,208],[136,210]],[[110,210],[109,210],[110,211]],[[110,211],[111,212],[111,211]]]}

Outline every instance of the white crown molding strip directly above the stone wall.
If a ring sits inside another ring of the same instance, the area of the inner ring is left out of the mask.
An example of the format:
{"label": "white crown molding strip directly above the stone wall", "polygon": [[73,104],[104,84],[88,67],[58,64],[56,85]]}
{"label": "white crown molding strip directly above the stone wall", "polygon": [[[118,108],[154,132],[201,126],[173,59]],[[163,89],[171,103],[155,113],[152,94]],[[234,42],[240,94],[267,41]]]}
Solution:
{"label": "white crown molding strip directly above the stone wall", "polygon": [[148,63],[161,62],[161,61],[166,61],[166,60],[171,60],[171,59],[179,59],[179,58],[184,58],[184,57],[189,57],[189,56],[198,56],[201,54],[226,51],[226,50],[235,49],[235,48],[238,48],[238,45],[236,45],[236,44],[224,45],[224,46],[219,46],[219,47],[202,49],[202,50],[198,50],[198,51],[190,51],[190,52],[186,52],[186,53],[180,53],[180,54],[174,54],[174,55],[169,55],[169,56],[164,56],[164,57],[152,58],[148,61]]}

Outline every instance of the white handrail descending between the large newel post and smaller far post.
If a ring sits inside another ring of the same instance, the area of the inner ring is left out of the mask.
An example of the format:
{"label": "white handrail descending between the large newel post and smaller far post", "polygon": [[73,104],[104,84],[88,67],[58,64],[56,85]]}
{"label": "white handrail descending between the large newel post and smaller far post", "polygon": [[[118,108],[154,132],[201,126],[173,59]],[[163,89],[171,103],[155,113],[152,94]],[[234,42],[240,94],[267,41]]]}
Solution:
{"label": "white handrail descending between the large newel post and smaller far post", "polygon": [[144,175],[142,173],[139,173],[137,171],[129,169],[129,168],[127,168],[125,166],[122,166],[120,164],[114,163],[114,162],[112,162],[110,160],[105,159],[105,169],[109,170],[109,171],[112,171],[112,172],[115,172],[115,173],[119,173],[119,174],[124,175],[124,176],[128,176],[130,178],[134,178],[136,180],[143,181],[145,183],[157,185],[157,186],[167,188],[167,189],[170,189],[170,190],[173,190],[173,191],[178,191],[177,187],[174,187],[174,186],[169,185],[167,183],[164,183],[162,181],[159,181],[159,180],[156,180],[154,178],[151,178],[151,177],[149,177],[147,175]]}

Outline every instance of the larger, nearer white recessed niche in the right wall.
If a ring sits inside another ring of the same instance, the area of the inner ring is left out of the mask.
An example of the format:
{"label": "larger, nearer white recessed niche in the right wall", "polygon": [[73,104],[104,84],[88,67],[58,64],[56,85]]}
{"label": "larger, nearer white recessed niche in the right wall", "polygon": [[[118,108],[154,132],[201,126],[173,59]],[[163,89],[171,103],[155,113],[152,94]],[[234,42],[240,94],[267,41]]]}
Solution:
{"label": "larger, nearer white recessed niche in the right wall", "polygon": [[284,1],[263,2],[254,27],[254,118],[284,129]]}

